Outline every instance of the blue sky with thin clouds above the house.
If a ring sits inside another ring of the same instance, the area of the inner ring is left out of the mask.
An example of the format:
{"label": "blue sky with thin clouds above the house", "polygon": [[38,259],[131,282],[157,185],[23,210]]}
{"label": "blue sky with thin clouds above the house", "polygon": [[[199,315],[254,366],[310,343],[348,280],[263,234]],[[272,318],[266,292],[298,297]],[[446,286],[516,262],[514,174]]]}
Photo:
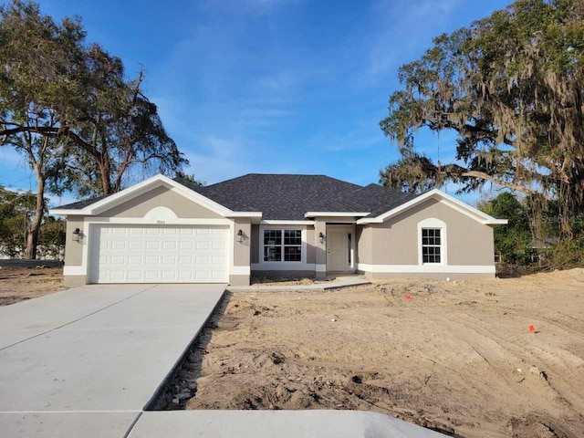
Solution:
{"label": "blue sky with thin clouds above the house", "polygon": [[[510,1],[39,3],[57,19],[81,16],[88,41],[121,57],[129,77],[143,66],[146,95],[198,179],[289,172],[368,184],[397,158],[379,128],[397,69],[433,36]],[[453,136],[422,132],[416,142],[434,158],[439,146],[443,162],[453,157]],[[0,183],[34,190],[26,162],[5,148],[0,155]]]}

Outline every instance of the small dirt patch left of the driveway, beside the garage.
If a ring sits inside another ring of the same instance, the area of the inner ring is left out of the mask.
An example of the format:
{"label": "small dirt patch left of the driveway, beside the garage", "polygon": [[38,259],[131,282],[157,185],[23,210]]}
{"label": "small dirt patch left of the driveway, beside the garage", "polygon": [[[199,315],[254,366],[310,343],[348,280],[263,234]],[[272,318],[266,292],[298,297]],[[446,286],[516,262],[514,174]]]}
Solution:
{"label": "small dirt patch left of the driveway, beside the garage", "polygon": [[0,306],[57,292],[63,286],[62,267],[0,268]]}

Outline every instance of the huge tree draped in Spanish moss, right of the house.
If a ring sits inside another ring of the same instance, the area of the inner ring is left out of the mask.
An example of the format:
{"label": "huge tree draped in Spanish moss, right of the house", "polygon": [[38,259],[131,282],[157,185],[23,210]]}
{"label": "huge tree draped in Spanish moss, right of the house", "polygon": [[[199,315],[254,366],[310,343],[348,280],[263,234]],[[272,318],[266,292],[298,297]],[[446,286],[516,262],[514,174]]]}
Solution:
{"label": "huge tree draped in Spanish moss, right of the house", "polygon": [[[570,217],[584,210],[583,18],[579,0],[518,0],[434,38],[399,70],[403,89],[381,129],[403,158],[382,182],[419,190],[453,181],[462,191],[490,182],[537,203],[556,199],[571,235]],[[454,130],[455,161],[416,153],[420,129]]]}

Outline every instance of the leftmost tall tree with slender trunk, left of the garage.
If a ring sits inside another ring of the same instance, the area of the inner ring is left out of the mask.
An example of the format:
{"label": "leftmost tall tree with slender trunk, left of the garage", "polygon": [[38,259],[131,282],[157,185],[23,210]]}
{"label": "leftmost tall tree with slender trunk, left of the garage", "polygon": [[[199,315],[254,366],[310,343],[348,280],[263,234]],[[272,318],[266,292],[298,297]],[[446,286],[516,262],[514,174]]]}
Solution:
{"label": "leftmost tall tree with slender trunk, left of the garage", "polygon": [[77,21],[57,25],[35,4],[0,7],[0,135],[26,156],[36,176],[36,208],[26,230],[26,258],[36,258],[48,181],[58,179],[65,137],[60,130],[78,95],[73,66],[84,34]]}

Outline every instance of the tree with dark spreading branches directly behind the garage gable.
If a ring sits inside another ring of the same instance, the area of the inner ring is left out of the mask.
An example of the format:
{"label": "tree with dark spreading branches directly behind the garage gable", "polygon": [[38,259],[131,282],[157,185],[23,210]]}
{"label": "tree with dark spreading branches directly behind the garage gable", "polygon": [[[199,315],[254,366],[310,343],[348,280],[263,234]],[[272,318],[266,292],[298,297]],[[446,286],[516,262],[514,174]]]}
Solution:
{"label": "tree with dark spreading branches directly behind the garage gable", "polygon": [[125,80],[120,58],[98,45],[86,57],[86,103],[70,130],[68,187],[80,195],[110,194],[153,173],[172,174],[188,163],[168,135],[156,105],[141,90],[144,79]]}

